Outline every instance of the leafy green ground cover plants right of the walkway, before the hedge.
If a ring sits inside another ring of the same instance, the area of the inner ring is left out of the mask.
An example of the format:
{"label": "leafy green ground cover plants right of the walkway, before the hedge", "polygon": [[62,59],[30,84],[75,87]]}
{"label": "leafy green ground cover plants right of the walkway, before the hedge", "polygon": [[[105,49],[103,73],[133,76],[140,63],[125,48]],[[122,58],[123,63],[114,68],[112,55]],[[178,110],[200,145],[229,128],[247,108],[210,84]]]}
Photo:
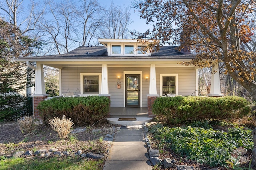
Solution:
{"label": "leafy green ground cover plants right of the walkway, before the hedge", "polygon": [[231,164],[243,161],[248,166],[253,149],[251,132],[225,121],[196,121],[178,127],[162,123],[150,126],[152,147],[160,150],[162,156],[174,156],[187,164],[199,163],[209,168],[231,168]]}

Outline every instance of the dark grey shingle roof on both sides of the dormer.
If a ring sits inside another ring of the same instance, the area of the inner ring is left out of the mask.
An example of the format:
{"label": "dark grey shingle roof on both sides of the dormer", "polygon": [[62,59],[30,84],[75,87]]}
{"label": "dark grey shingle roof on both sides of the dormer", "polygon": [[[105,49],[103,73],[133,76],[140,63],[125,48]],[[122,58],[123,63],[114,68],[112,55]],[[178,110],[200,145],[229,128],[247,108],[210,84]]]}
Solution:
{"label": "dark grey shingle roof on both sides of the dormer", "polygon": [[193,59],[193,54],[183,54],[178,51],[177,46],[162,46],[159,51],[151,53],[151,56],[108,56],[107,48],[104,46],[81,46],[68,53],[60,55],[46,55],[30,57],[30,59]]}

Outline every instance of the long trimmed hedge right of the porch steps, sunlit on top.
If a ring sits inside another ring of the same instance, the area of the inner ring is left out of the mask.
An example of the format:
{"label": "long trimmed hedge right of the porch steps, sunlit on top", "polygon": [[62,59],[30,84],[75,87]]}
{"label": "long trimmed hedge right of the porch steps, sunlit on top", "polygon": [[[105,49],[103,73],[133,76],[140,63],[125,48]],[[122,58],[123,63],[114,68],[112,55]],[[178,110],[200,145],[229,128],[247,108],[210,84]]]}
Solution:
{"label": "long trimmed hedge right of the porch steps, sunlit on top", "polygon": [[169,124],[203,119],[229,119],[247,115],[249,102],[236,96],[220,98],[200,96],[176,96],[157,98],[153,113]]}

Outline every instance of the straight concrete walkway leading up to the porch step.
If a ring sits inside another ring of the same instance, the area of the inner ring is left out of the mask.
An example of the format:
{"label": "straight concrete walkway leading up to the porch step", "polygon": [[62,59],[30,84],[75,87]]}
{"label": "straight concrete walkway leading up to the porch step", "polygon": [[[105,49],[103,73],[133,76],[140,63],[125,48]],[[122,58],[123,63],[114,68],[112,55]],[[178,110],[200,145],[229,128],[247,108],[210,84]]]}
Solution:
{"label": "straight concrete walkway leading up to the porch step", "polygon": [[152,170],[141,125],[121,127],[103,170]]}

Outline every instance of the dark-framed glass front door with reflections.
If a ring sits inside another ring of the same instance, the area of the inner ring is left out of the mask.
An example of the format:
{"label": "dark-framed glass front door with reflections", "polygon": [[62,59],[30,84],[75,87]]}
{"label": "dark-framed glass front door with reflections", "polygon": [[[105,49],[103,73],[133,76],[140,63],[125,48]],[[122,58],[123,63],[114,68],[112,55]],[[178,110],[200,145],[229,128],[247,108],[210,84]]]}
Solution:
{"label": "dark-framed glass front door with reflections", "polygon": [[125,74],[125,107],[140,107],[140,74]]}

